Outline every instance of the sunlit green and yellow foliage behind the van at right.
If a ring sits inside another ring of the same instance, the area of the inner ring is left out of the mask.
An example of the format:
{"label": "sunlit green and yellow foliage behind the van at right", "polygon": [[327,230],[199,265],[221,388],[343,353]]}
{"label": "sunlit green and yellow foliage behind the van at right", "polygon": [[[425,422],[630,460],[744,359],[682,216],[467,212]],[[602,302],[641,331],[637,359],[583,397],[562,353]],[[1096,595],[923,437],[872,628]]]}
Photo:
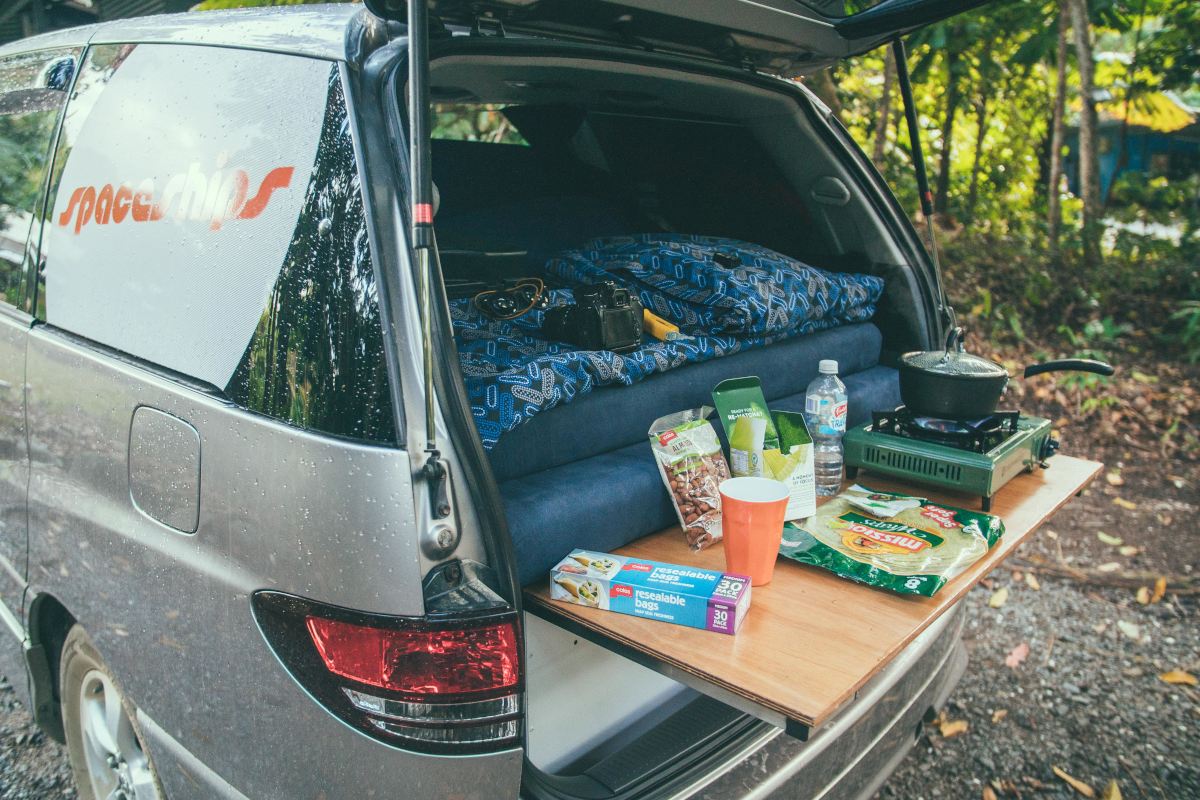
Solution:
{"label": "sunlit green and yellow foliage behind the van at right", "polygon": [[[1092,0],[1090,7],[1104,113],[1124,110],[1127,94],[1128,108],[1144,115],[1145,98],[1164,90],[1192,91],[1186,96],[1200,103],[1200,4]],[[908,38],[931,182],[943,152],[950,156],[938,223],[952,301],[977,335],[997,344],[1103,357],[1157,343],[1200,360],[1200,167],[1176,161],[1166,175],[1126,170],[1108,199],[1099,264],[1081,259],[1081,201],[1070,194],[1061,196],[1058,247],[1049,241],[1057,29],[1058,4],[1038,0],[991,4]],[[1073,126],[1081,109],[1073,47],[1068,58]],[[960,104],[943,140],[955,80]],[[835,82],[842,121],[866,152],[878,152],[877,122],[889,114],[880,169],[916,213],[899,92],[890,92],[889,108],[880,102],[884,50],[848,60]]]}

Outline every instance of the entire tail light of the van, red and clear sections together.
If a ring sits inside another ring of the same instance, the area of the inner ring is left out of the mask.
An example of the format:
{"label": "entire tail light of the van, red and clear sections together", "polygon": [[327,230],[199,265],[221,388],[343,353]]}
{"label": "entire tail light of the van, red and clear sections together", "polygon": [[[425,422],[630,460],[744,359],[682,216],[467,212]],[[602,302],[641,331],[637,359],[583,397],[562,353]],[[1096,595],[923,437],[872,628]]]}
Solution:
{"label": "entire tail light of the van, red and clear sections together", "polygon": [[380,741],[436,753],[521,742],[521,632],[511,610],[362,614],[276,591],[253,597],[263,636],[331,714]]}

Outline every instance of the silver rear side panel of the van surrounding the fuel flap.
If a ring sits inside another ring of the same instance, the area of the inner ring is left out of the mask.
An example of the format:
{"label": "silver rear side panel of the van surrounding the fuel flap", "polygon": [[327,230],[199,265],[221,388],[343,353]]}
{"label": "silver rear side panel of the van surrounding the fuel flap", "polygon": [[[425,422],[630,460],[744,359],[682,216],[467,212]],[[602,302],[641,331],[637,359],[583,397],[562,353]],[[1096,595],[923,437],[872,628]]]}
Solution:
{"label": "silver rear side panel of the van surrounding the fuel flap", "polygon": [[[437,796],[484,774],[516,786],[520,754],[438,759],[349,729],[290,679],[251,615],[264,588],[424,614],[402,451],[247,414],[47,327],[30,342],[31,589],[71,609],[148,716],[252,798],[367,796],[414,775]],[[145,405],[199,432],[194,535],[130,498],[130,423]]]}

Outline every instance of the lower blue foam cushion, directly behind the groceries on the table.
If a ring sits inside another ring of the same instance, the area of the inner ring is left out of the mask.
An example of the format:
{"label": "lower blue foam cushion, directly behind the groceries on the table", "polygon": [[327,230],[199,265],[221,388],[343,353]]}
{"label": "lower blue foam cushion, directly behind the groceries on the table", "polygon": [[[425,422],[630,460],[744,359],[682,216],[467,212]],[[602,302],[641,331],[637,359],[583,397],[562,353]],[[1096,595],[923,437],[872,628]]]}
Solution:
{"label": "lower blue foam cushion, directly behind the groceries on the table", "polygon": [[[737,357],[748,355],[750,353]],[[679,374],[689,374],[698,368],[680,371]],[[811,371],[815,373],[816,361],[812,362]],[[808,372],[808,365],[802,365],[797,372]],[[676,373],[665,373],[661,378]],[[761,377],[767,385],[768,373],[764,372]],[[769,377],[778,379],[770,380],[776,386],[790,383],[776,374]],[[895,408],[900,403],[895,369],[871,367],[847,375],[845,381],[850,396],[850,425],[866,420],[872,410]],[[653,381],[643,385],[650,383]],[[793,411],[803,409],[808,381],[803,383],[804,386],[797,393],[769,398],[770,407]],[[704,392],[710,387],[712,384],[707,381],[702,385]],[[614,398],[610,401],[606,420],[618,423],[626,414],[614,403],[624,401],[634,389],[636,387],[596,392],[588,399],[605,396]],[[664,408],[686,407],[686,403],[673,405],[664,402],[655,413]],[[574,407],[560,408],[556,413],[563,414],[569,408]],[[546,420],[552,416],[546,415]],[[536,428],[534,425],[528,427]],[[545,578],[550,567],[575,547],[611,552],[677,523],[670,497],[654,463],[650,444],[646,440],[644,425],[642,427],[642,435],[636,444],[500,485],[522,584]]]}

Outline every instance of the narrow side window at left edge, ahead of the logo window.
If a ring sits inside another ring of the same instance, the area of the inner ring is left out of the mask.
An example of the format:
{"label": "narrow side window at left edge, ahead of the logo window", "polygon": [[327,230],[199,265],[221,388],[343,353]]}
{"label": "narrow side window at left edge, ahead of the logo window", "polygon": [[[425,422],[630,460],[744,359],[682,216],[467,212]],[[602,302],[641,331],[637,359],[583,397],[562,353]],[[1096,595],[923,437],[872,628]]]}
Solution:
{"label": "narrow side window at left edge, ahead of the logo window", "polygon": [[0,300],[10,306],[24,294],[26,245],[77,56],[40,50],[0,60]]}

